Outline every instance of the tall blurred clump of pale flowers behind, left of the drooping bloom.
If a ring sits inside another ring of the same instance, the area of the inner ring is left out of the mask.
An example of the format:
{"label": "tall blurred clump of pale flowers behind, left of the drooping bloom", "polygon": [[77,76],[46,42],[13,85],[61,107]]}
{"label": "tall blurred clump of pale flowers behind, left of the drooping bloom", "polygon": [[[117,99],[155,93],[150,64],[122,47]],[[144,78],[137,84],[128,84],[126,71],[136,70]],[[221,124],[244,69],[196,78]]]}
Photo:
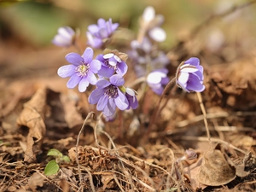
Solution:
{"label": "tall blurred clump of pale flowers behind, left of the drooping bloom", "polygon": [[147,77],[146,82],[154,93],[161,95],[168,83],[166,65],[170,62],[163,51],[157,49],[152,41],[162,42],[166,39],[166,32],[160,28],[163,15],[155,15],[154,8],[144,10],[137,40],[131,41],[129,53],[134,64],[137,77]]}

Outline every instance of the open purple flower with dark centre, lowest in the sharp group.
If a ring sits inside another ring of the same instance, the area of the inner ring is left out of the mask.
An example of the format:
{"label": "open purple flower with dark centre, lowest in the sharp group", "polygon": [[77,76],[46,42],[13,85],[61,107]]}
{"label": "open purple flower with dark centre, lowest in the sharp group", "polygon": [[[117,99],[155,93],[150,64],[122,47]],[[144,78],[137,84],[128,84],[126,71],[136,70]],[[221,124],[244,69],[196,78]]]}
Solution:
{"label": "open purple flower with dark centre, lowest in the sharp group", "polygon": [[125,110],[129,102],[119,86],[125,84],[122,76],[115,74],[107,79],[99,79],[96,82],[96,90],[93,90],[88,98],[90,104],[96,104],[96,109],[102,111],[105,116],[113,116],[115,108]]}

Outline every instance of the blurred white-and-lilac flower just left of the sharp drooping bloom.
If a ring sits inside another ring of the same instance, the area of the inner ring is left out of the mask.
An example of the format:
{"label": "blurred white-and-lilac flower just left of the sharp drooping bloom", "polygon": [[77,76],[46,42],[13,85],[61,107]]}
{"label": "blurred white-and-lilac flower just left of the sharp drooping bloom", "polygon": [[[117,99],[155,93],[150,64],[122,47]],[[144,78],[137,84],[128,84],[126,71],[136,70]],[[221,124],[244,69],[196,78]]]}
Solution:
{"label": "blurred white-and-lilac flower just left of the sharp drooping bloom", "polygon": [[148,86],[158,95],[161,95],[164,90],[164,85],[168,84],[168,70],[166,68],[155,70],[148,74]]}

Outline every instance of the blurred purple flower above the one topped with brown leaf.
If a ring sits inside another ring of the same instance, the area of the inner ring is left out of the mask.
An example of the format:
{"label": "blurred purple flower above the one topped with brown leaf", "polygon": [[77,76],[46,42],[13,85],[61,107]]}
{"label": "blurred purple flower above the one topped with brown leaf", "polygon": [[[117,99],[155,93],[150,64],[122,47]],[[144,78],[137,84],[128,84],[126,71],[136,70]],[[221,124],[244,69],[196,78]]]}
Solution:
{"label": "blurred purple flower above the one topped with brown leaf", "polygon": [[112,19],[108,21],[99,19],[96,24],[88,26],[86,36],[88,38],[88,44],[93,48],[100,48],[104,41],[111,36],[111,34],[119,26],[118,23],[112,23]]}

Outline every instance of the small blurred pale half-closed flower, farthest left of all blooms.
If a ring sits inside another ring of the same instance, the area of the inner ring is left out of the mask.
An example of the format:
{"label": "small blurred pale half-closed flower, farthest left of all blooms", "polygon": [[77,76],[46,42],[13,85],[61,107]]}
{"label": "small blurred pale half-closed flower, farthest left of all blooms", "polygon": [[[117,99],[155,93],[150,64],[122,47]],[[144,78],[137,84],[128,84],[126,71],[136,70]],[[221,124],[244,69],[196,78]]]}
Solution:
{"label": "small blurred pale half-closed flower, farthest left of all blooms", "polygon": [[69,26],[62,26],[58,34],[52,39],[52,43],[60,47],[68,47],[74,44],[76,33]]}

